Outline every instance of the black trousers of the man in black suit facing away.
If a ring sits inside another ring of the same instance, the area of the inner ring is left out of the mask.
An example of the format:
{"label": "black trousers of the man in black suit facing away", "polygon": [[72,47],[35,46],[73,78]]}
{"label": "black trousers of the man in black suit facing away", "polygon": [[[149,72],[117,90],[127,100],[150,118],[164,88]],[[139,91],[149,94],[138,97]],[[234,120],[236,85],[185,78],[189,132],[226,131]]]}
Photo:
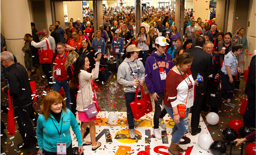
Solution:
{"label": "black trousers of the man in black suit facing away", "polygon": [[191,116],[192,132],[197,131],[203,99],[204,99],[204,94],[202,95],[201,93],[195,93],[194,105],[191,107],[192,108],[192,116]]}

